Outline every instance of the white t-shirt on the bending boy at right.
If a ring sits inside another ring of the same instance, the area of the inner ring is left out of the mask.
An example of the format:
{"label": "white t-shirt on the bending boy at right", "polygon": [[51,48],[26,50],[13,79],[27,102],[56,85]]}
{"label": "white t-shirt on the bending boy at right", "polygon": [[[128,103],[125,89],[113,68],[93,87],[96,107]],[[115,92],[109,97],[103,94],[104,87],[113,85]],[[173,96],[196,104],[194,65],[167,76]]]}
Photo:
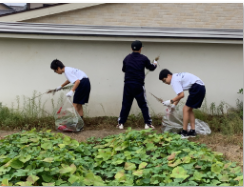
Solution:
{"label": "white t-shirt on the bending boy at right", "polygon": [[181,72],[174,73],[172,75],[170,85],[173,87],[175,93],[178,95],[183,91],[189,90],[194,83],[204,85],[203,81],[199,77],[191,73]]}

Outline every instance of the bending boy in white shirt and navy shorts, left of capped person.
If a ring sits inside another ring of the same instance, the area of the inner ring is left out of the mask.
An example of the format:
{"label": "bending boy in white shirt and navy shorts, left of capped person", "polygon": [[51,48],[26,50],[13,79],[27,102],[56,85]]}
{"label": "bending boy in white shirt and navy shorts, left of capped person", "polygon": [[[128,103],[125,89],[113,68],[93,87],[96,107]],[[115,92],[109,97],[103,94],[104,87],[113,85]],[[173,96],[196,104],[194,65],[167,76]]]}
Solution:
{"label": "bending boy in white shirt and navy shorts, left of capped person", "polygon": [[64,73],[66,78],[68,79],[61,86],[57,87],[56,91],[61,90],[62,87],[66,86],[69,83],[74,84],[73,88],[66,94],[66,96],[72,97],[75,92],[73,98],[73,106],[79,113],[80,117],[83,119],[82,105],[88,103],[91,90],[88,76],[79,69],[64,66],[64,64],[57,59],[52,61],[51,69],[58,74]]}

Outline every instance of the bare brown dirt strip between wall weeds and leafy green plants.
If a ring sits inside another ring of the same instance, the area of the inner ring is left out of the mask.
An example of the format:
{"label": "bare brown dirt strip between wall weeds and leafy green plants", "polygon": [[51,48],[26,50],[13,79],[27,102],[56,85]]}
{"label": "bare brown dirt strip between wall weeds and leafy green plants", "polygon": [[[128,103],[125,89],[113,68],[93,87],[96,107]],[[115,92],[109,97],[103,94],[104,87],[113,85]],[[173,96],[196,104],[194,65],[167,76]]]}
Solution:
{"label": "bare brown dirt strip between wall weeds and leafy green plants", "polygon": [[[142,128],[133,128],[133,129],[141,130]],[[162,132],[160,126],[156,127],[156,130],[159,133]],[[126,129],[119,130],[116,129],[115,127],[103,128],[102,126],[100,126],[99,129],[95,129],[95,130],[90,129],[89,127],[88,128],[85,127],[81,132],[78,133],[63,132],[63,134],[70,136],[71,138],[76,139],[77,141],[80,142],[80,141],[86,141],[87,138],[90,137],[103,138],[108,135],[119,134],[125,131]],[[0,139],[4,138],[9,134],[13,134],[17,132],[19,131],[0,130]],[[53,131],[53,132],[57,132],[57,131]],[[243,135],[239,135],[239,136],[235,135],[234,138],[238,139],[238,141],[240,141],[240,139],[242,139],[243,141]],[[196,138],[190,138],[189,140],[194,142],[204,143],[213,151],[223,153],[223,155],[227,160],[237,162],[238,165],[240,165],[241,167],[243,166],[243,144],[237,145],[233,137],[231,137],[228,141],[228,137],[216,133],[216,134],[212,134],[211,136],[199,135]]]}

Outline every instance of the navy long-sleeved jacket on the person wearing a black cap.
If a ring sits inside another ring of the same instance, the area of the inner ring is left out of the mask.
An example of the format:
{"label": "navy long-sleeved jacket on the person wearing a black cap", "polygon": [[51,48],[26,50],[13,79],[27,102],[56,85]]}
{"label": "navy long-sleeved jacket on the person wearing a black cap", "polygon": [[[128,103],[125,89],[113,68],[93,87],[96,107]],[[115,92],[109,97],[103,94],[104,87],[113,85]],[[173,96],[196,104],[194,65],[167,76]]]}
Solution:
{"label": "navy long-sleeved jacket on the person wearing a black cap", "polygon": [[122,68],[122,71],[125,72],[125,83],[144,85],[145,68],[153,71],[156,67],[145,55],[135,52],[127,55]]}

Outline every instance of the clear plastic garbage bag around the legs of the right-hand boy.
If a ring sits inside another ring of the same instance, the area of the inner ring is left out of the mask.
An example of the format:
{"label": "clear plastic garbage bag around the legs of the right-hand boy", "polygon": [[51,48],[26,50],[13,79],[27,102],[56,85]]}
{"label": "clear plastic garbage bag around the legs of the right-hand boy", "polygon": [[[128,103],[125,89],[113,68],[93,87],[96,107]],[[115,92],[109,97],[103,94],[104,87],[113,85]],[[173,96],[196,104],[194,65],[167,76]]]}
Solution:
{"label": "clear plastic garbage bag around the legs of the right-hand boy", "polygon": [[[162,130],[163,132],[169,131],[169,132],[179,132],[183,128],[183,112],[171,109],[170,107],[167,107],[165,109],[165,113],[163,115],[162,119]],[[190,123],[188,123],[187,130],[189,131],[191,129]],[[207,135],[211,134],[211,129],[209,128],[208,124],[204,121],[201,121],[200,119],[195,119],[195,131],[197,134]]]}

